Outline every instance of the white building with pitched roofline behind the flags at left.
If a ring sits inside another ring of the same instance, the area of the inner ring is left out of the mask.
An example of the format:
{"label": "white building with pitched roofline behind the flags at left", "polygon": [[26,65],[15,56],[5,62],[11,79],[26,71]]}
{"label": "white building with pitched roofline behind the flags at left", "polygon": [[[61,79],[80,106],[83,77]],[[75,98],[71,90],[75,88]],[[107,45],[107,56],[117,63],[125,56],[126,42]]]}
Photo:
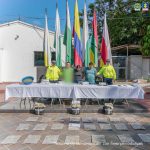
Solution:
{"label": "white building with pitched roofline behind the flags at left", "polygon": [[[54,32],[49,35],[53,48]],[[44,29],[22,21],[0,25],[0,82],[20,82],[29,75],[37,80],[35,57],[43,54],[43,36]],[[65,64],[64,45],[62,63]]]}

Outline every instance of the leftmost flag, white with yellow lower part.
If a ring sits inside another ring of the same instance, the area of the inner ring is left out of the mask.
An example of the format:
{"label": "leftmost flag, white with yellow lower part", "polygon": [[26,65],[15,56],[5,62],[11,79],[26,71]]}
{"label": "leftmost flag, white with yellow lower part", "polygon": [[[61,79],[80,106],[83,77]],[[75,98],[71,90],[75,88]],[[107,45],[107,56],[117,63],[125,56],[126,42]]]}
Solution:
{"label": "leftmost flag, white with yellow lower part", "polygon": [[44,31],[43,49],[44,49],[44,65],[47,67],[51,64],[47,12],[45,14],[45,31]]}

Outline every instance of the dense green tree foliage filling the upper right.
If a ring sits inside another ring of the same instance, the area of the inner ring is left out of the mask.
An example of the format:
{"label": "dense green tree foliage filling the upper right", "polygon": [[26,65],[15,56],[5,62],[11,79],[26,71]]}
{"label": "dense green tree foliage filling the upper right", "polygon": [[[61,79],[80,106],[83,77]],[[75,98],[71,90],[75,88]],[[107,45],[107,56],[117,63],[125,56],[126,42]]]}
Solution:
{"label": "dense green tree foliage filling the upper right", "polygon": [[[111,46],[136,44],[141,46],[141,52],[150,56],[150,11],[143,14],[133,9],[135,3],[144,0],[95,0],[88,6],[89,28],[92,29],[94,8],[97,11],[99,43],[101,43],[103,16],[107,13],[107,23]],[[150,0],[146,0],[150,2]],[[80,13],[83,20],[83,11]],[[81,24],[82,26],[82,24]]]}

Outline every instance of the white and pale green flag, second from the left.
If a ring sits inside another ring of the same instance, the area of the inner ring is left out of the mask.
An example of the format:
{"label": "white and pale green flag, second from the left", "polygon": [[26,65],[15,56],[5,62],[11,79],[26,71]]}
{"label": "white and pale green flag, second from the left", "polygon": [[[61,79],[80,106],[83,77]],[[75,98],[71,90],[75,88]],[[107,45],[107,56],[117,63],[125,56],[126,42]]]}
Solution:
{"label": "white and pale green flag, second from the left", "polygon": [[56,50],[56,65],[58,67],[62,66],[61,61],[61,31],[60,31],[60,17],[58,13],[58,5],[56,3],[56,23],[55,23],[55,40],[54,48]]}

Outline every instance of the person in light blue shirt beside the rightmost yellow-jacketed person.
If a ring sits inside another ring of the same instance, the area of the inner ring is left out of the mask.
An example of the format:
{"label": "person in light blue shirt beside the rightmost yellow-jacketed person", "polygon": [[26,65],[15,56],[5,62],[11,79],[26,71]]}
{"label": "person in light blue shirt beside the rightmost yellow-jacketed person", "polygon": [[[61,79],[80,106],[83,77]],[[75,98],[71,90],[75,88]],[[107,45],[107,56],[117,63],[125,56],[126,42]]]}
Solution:
{"label": "person in light blue shirt beside the rightmost yellow-jacketed person", "polygon": [[94,68],[94,64],[92,62],[89,63],[89,67],[85,68],[85,81],[89,82],[90,84],[95,84],[95,76],[96,76],[96,69]]}

